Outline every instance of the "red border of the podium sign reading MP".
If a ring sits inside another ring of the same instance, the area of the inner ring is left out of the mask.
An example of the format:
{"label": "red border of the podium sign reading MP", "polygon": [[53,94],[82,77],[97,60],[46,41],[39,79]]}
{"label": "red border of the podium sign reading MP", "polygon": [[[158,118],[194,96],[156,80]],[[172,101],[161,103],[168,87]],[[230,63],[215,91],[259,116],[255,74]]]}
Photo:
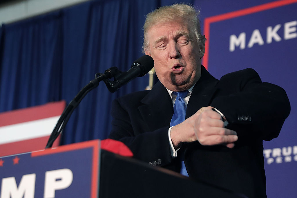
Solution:
{"label": "red border of the podium sign reading MP", "polygon": [[54,153],[63,153],[72,150],[79,150],[83,148],[93,147],[93,160],[92,160],[92,175],[91,175],[91,198],[97,198],[98,196],[98,169],[99,169],[99,140],[90,140],[86,142],[79,142],[69,145],[60,146],[57,148],[49,148],[42,151],[36,151],[31,153],[31,157],[38,157],[42,155],[50,155]]}

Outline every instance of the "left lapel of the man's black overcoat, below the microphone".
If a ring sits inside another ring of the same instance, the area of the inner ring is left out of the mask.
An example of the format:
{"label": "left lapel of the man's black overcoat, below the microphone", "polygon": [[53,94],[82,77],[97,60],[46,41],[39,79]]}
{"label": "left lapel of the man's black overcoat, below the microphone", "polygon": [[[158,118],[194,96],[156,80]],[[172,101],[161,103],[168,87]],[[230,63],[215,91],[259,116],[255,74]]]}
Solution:
{"label": "left lapel of the man's black overcoat, below the microphone", "polygon": [[138,109],[151,131],[170,125],[173,105],[167,89],[157,82],[141,102]]}

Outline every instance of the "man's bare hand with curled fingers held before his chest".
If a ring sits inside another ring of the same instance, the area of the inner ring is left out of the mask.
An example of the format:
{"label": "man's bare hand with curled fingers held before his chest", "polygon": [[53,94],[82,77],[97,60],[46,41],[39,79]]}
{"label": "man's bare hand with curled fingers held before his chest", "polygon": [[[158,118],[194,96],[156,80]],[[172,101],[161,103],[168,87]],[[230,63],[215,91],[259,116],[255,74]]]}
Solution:
{"label": "man's bare hand with curled fingers held before his chest", "polygon": [[229,148],[234,147],[238,136],[236,132],[224,128],[222,117],[213,107],[202,107],[184,122],[171,128],[170,136],[175,148],[181,142],[198,141],[205,146],[224,144]]}

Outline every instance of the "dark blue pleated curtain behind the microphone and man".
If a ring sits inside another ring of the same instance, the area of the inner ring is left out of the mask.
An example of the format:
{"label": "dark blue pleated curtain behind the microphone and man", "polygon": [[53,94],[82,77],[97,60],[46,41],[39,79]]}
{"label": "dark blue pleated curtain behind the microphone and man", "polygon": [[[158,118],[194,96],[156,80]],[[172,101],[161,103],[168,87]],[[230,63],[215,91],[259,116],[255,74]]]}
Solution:
{"label": "dark blue pleated curtain behind the microphone and man", "polygon": [[[51,101],[69,103],[95,73],[113,66],[127,71],[142,56],[145,15],[173,3],[88,1],[2,25],[0,112]],[[110,93],[101,82],[73,112],[61,143],[105,139],[111,127],[111,101],[147,85],[145,76]]]}

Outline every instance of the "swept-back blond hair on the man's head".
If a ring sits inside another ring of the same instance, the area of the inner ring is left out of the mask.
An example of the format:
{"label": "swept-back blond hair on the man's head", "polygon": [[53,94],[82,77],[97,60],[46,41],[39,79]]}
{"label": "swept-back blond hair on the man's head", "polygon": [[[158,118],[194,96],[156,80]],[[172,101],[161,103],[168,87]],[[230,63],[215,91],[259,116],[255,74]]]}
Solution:
{"label": "swept-back blond hair on the man's head", "polygon": [[206,38],[201,34],[200,21],[198,18],[200,11],[196,11],[191,4],[176,3],[171,6],[159,7],[146,15],[146,22],[143,25],[143,45],[142,52],[149,50],[147,34],[151,27],[157,23],[182,20],[188,25],[190,33],[194,33],[198,45],[204,45]]}

